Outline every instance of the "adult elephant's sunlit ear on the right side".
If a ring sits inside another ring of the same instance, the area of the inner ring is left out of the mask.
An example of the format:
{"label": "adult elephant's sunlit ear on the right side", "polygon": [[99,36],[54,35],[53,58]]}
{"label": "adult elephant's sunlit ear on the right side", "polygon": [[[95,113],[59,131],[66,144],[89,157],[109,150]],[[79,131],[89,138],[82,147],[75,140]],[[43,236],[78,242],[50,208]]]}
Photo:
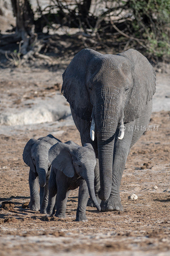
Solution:
{"label": "adult elephant's sunlit ear on the right side", "polygon": [[156,91],[156,73],[149,61],[138,51],[129,49],[118,55],[132,64],[133,88],[124,108],[124,123],[137,119]]}

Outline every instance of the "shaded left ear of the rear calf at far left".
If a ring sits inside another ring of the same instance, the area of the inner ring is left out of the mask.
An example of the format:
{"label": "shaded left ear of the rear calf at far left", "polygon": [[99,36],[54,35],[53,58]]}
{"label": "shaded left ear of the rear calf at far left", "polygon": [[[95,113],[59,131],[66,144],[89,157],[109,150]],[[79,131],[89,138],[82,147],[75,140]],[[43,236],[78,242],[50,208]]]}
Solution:
{"label": "shaded left ear of the rear calf at far left", "polygon": [[25,145],[22,158],[24,160],[24,163],[27,164],[33,172],[35,172],[35,166],[33,164],[33,160],[31,158],[31,147],[36,142],[35,139],[30,139]]}

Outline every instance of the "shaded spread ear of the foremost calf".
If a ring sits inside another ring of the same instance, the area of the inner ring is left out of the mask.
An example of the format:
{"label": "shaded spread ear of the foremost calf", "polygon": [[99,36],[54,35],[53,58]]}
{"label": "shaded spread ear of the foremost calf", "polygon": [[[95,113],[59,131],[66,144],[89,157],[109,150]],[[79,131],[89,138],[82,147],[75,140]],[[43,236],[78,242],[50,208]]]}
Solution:
{"label": "shaded spread ear of the foremost calf", "polygon": [[72,146],[58,142],[48,151],[49,162],[52,163],[56,169],[62,171],[67,177],[74,176],[71,150]]}

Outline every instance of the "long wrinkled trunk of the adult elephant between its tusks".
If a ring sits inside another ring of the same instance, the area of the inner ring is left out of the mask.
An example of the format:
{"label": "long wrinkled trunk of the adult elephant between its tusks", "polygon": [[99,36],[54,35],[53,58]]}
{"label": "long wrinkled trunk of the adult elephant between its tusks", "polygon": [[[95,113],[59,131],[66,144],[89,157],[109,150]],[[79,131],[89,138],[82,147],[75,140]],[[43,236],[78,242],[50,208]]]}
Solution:
{"label": "long wrinkled trunk of the adult elephant between its tusks", "polygon": [[94,118],[98,143],[100,169],[99,198],[107,200],[112,188],[112,166],[115,132],[122,119],[120,95],[117,90],[110,92],[109,87],[98,94]]}

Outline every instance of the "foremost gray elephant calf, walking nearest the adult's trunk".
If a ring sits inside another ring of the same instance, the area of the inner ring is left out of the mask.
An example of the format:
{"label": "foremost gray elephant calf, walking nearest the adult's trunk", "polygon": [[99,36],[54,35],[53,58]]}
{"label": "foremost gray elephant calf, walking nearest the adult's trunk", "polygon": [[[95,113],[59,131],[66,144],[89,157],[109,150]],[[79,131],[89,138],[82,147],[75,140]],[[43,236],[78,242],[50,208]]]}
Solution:
{"label": "foremost gray elephant calf, walking nearest the adult's trunk", "polygon": [[57,211],[55,216],[65,218],[66,203],[70,190],[79,187],[77,221],[87,221],[85,210],[88,196],[100,211],[94,192],[95,153],[92,145],[86,143],[83,147],[73,141],[58,142],[48,152],[52,162],[49,178],[49,198],[47,213],[55,213],[55,197],[57,194]]}

